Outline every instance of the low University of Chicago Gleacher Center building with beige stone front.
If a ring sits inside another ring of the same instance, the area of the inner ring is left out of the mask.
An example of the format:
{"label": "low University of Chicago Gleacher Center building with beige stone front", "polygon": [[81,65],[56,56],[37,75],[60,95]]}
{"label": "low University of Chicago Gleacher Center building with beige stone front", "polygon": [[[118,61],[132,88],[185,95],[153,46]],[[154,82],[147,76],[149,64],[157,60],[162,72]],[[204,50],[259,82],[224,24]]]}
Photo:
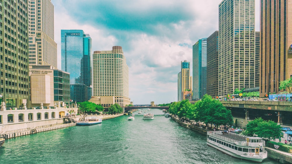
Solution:
{"label": "low University of Chicago Gleacher Center building with beige stone front", "polygon": [[[59,107],[70,102],[70,75],[53,66],[29,66],[29,106]],[[22,106],[23,107],[23,106]]]}

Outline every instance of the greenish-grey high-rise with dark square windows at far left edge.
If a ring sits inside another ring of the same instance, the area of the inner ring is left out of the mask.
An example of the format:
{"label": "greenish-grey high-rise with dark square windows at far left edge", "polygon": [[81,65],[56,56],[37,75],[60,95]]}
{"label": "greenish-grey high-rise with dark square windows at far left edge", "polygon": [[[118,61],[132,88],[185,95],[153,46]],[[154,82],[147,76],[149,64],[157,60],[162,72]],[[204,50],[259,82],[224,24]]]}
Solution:
{"label": "greenish-grey high-rise with dark square windows at far left edge", "polygon": [[0,1],[0,101],[6,108],[29,100],[28,1]]}

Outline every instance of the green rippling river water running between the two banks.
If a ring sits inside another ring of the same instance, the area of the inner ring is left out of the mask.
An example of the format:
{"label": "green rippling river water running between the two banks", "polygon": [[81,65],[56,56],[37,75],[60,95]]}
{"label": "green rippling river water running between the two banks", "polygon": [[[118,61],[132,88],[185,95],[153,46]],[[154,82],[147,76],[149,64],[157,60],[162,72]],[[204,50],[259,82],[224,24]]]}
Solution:
{"label": "green rippling river water running between the two banks", "polygon": [[[0,163],[253,163],[208,147],[206,135],[179,126],[159,109],[6,140]],[[265,159],[263,163],[277,163]]]}

